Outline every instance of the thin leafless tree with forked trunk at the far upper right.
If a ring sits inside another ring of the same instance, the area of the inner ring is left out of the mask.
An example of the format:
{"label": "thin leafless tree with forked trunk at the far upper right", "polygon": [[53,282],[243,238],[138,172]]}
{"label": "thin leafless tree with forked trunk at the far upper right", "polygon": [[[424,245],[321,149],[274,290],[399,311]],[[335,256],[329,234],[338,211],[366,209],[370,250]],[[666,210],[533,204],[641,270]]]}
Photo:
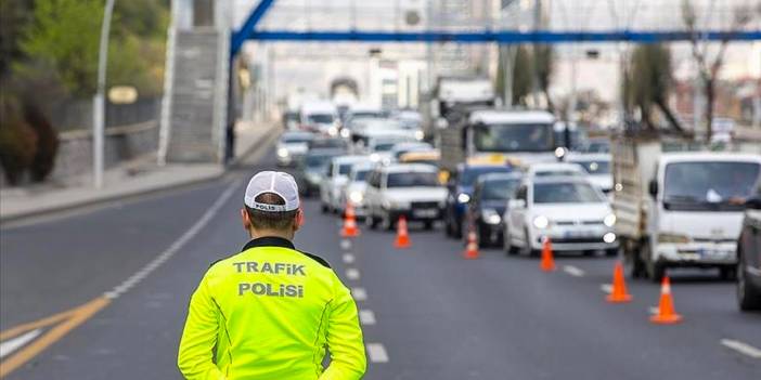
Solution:
{"label": "thin leafless tree with forked trunk at the far upper right", "polygon": [[[713,8],[713,1],[711,2],[711,9]],[[719,42],[719,49],[717,54],[711,58],[709,57],[708,48],[709,44],[704,38],[705,31],[701,31],[698,22],[697,13],[695,6],[691,0],[682,0],[682,19],[689,32],[689,40],[692,44],[693,58],[697,66],[697,75],[700,79],[700,84],[702,86],[702,94],[706,96],[706,109],[704,110],[702,117],[706,119],[706,141],[711,140],[713,134],[713,105],[715,103],[715,88],[717,81],[719,79],[719,71],[724,64],[724,54],[726,53],[726,47],[732,40],[733,34],[743,30],[752,19],[753,13],[761,14],[761,5],[757,5],[757,9],[752,9],[748,5],[740,5],[735,8],[733,12],[732,24],[727,34]],[[697,91],[697,89],[695,90]],[[697,113],[697,109],[695,110]],[[694,115],[694,117],[699,117]]]}

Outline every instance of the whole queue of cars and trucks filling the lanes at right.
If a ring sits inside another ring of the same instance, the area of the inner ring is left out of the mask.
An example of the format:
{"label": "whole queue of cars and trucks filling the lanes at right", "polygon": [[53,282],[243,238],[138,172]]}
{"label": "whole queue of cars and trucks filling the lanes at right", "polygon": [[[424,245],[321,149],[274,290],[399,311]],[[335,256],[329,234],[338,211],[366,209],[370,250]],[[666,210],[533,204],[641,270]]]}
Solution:
{"label": "whole queue of cars and trucks filling the lanes at right", "polygon": [[507,255],[551,241],[555,254],[618,255],[630,277],[658,283],[670,268],[718,268],[741,310],[761,307],[761,152],[610,131],[568,148],[565,123],[536,110],[468,108],[426,127],[414,110],[314,109],[287,123],[276,155],[324,213],[439,226]]}

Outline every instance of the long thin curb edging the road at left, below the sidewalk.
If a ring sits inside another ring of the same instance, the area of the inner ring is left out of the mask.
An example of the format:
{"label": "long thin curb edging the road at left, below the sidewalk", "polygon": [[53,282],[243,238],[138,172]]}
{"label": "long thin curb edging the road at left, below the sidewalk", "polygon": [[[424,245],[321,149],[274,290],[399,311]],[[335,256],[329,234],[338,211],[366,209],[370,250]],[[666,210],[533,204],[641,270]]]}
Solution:
{"label": "long thin curb edging the road at left, below the sidewalk", "polygon": [[[270,127],[271,130],[274,130],[274,126]],[[197,176],[193,179],[188,179],[188,180],[182,180],[173,183],[167,183],[165,185],[157,185],[157,186],[151,186],[151,187],[145,187],[141,189],[136,189],[133,192],[126,192],[122,194],[109,194],[109,195],[104,195],[101,197],[93,197],[93,198],[88,198],[88,199],[81,199],[81,200],[75,200],[65,205],[55,205],[55,206],[50,206],[50,207],[43,207],[39,208],[36,210],[31,211],[22,211],[17,213],[12,213],[9,215],[3,215],[0,217],[0,226],[5,226],[7,224],[10,223],[15,223],[15,222],[22,222],[26,219],[34,219],[36,217],[41,217],[43,214],[48,213],[57,213],[57,212],[65,212],[65,211],[72,211],[80,208],[86,208],[86,207],[96,207],[101,205],[105,205],[115,200],[131,200],[139,198],[141,196],[145,195],[152,195],[152,194],[158,194],[167,191],[172,191],[181,187],[189,187],[193,185],[198,185],[207,182],[211,182],[215,180],[219,180],[224,178],[224,175],[232,169],[235,169],[243,160],[246,158],[250,157],[253,154],[257,153],[259,149],[262,149],[269,145],[271,145],[276,137],[278,134],[271,133],[271,131],[268,131],[267,133],[263,133],[261,136],[263,139],[259,139],[257,142],[251,144],[250,147],[248,147],[244,154],[240,155],[236,157],[234,160],[232,160],[228,166],[219,166],[219,171],[210,174],[206,174],[203,176]]]}

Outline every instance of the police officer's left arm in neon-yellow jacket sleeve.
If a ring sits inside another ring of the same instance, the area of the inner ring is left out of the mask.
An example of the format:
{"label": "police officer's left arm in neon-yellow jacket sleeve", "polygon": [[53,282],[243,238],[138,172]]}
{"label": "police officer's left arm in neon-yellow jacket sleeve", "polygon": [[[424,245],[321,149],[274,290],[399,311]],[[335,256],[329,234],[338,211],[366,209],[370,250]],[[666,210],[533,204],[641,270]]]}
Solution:
{"label": "police officer's left arm in neon-yellow jacket sleeve", "polygon": [[188,380],[223,380],[214,363],[217,343],[218,307],[208,291],[206,277],[191,297],[188,320],[180,340],[177,365]]}

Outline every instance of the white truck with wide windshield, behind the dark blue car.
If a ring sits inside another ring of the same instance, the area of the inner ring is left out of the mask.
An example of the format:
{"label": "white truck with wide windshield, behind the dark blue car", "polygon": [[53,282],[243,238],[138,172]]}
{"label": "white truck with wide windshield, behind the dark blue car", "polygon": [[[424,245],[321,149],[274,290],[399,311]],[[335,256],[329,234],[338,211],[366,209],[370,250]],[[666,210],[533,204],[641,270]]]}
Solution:
{"label": "white truck with wide windshield, behind the dark blue car", "polygon": [[529,165],[555,161],[555,117],[543,110],[464,109],[438,130],[441,169],[481,158]]}

